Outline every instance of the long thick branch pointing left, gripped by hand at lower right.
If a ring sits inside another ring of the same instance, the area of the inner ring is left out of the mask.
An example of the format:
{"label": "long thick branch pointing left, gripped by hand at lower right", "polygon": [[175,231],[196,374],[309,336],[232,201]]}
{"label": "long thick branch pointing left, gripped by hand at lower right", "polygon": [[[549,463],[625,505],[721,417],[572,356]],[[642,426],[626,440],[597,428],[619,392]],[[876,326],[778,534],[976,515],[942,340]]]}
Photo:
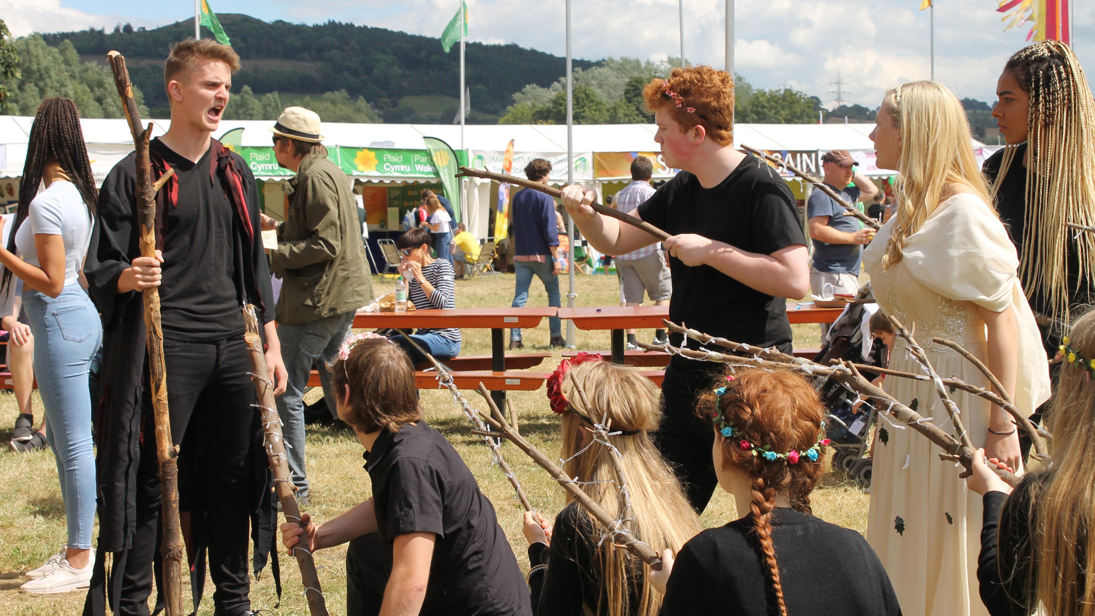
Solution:
{"label": "long thick branch pointing left, gripped by hand at lower right", "polygon": [[[679,326],[676,327],[678,328],[678,331],[684,329],[680,328]],[[718,339],[713,339],[712,336],[708,336],[706,334],[701,334],[701,335],[712,340],[718,340]],[[729,342],[729,341],[724,340],[724,342]],[[738,346],[748,346],[738,343],[731,343],[731,344]],[[878,368],[874,366],[860,366],[851,362],[841,362],[839,365],[835,366],[822,366],[821,364],[816,364],[814,362],[802,360],[800,357],[794,357],[793,358],[795,360],[794,362],[786,360],[780,360],[780,361],[762,360],[760,357],[760,353],[757,351],[752,351],[753,353],[752,357],[746,357],[741,355],[729,355],[716,351],[708,351],[706,349],[701,349],[701,350],[692,350],[684,347],[678,349],[668,343],[667,344],[641,343],[639,345],[643,349],[665,351],[673,355],[682,355],[684,357],[689,357],[692,360],[700,360],[704,362],[717,362],[723,364],[729,364],[736,367],[759,368],[763,370],[786,369],[807,377],[831,378],[832,380],[840,383],[841,385],[848,387],[849,389],[855,391],[856,393],[858,393],[864,398],[874,398],[876,400],[879,400],[881,402],[881,404],[878,408],[878,415],[880,418],[886,419],[886,421],[888,421],[890,425],[897,429],[906,430],[906,426],[908,426],[926,436],[929,441],[940,446],[945,452],[944,454],[940,454],[940,457],[942,459],[957,461],[963,466],[965,466],[967,470],[970,468],[970,465],[972,464],[972,455],[973,455],[972,447],[964,445],[958,438],[952,436],[950,434],[947,434],[941,427],[932,423],[931,418],[921,417],[914,409],[906,406],[904,403],[900,402],[889,393],[885,392],[880,387],[867,380],[867,378],[860,373],[860,367],[868,368],[872,372],[879,372]],[[757,347],[749,346],[749,349],[757,349]],[[890,374],[895,372],[896,370],[889,370]],[[903,376],[906,374],[908,373],[899,373],[897,374],[897,376]],[[915,378],[918,380],[927,380],[930,377],[921,375],[910,375],[910,378]],[[894,422],[890,422],[887,415],[896,418],[904,425],[898,425]],[[1006,481],[1010,486],[1014,487],[1018,484],[1019,478],[1017,476],[1007,472],[1006,470],[995,469],[995,471],[996,475],[1000,476],[1000,478]]]}

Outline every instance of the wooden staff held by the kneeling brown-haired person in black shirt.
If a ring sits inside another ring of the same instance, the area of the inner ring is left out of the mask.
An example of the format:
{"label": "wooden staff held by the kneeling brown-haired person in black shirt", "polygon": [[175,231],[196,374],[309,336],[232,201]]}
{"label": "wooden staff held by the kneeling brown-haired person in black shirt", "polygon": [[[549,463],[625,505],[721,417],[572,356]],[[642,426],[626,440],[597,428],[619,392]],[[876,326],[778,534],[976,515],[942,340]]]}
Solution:
{"label": "wooden staff held by the kneeling brown-haired person in black shirt", "polygon": [[[246,332],[243,339],[247,343],[247,358],[251,360],[251,380],[255,384],[258,396],[258,410],[263,422],[263,446],[266,449],[266,461],[274,474],[274,492],[281,503],[281,513],[287,522],[301,525],[300,505],[293,492],[289,475],[289,458],[286,456],[285,437],[281,435],[281,419],[274,408],[274,381],[270,380],[269,368],[266,366],[266,355],[263,354],[263,339],[258,334],[258,317],[255,307],[247,304],[243,307],[243,320]],[[304,584],[304,597],[308,600],[308,612],[312,616],[327,616],[327,605],[323,600],[320,586],[320,575],[315,571],[315,561],[308,548],[296,546],[292,555],[300,567],[300,580]],[[311,591],[311,592],[309,592]]]}

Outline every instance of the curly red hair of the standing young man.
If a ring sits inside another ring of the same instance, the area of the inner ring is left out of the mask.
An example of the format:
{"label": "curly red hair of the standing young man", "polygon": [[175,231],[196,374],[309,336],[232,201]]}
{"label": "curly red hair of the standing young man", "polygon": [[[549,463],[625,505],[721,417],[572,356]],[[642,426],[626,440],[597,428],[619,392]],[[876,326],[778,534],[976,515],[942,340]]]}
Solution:
{"label": "curly red hair of the standing young man", "polygon": [[[664,88],[665,83],[668,85]],[[680,106],[666,90],[680,96]],[[668,110],[680,124],[681,133],[700,125],[719,146],[734,142],[734,78],[725,70],[702,65],[675,68],[669,79],[657,78],[647,83],[643,99],[650,113]],[[689,109],[694,112],[690,113]]]}

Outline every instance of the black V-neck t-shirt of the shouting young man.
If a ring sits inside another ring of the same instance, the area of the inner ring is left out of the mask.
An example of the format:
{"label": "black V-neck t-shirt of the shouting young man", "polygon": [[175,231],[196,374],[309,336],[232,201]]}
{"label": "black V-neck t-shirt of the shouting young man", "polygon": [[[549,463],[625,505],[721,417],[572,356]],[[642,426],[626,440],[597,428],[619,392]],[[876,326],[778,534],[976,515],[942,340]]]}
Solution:
{"label": "black V-neck t-shirt of the shouting young man", "polygon": [[178,202],[163,217],[163,282],[160,319],[163,336],[192,342],[243,333],[235,288],[235,208],[219,179],[210,176],[209,156],[197,161],[171,150],[159,138],[151,148],[178,180]]}

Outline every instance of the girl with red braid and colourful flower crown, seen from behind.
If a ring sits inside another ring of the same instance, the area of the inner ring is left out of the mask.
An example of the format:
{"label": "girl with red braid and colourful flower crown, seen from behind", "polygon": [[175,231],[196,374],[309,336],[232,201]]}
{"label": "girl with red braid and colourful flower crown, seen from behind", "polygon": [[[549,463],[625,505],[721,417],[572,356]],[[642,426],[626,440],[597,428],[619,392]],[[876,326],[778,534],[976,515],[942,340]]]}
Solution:
{"label": "girl with red braid and colourful flower crown, seen from behind", "polygon": [[[662,614],[899,615],[886,570],[856,532],[810,514],[825,409],[789,372],[738,370],[700,397],[718,484],[742,517],[662,555]],[[839,589],[839,593],[833,590]]]}

